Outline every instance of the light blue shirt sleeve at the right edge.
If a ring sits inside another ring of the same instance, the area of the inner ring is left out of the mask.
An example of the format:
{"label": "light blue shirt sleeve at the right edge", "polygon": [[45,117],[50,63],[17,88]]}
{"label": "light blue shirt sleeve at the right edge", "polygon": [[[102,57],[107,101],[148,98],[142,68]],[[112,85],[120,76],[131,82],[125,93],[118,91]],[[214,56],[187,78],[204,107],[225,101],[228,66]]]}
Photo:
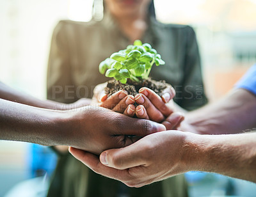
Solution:
{"label": "light blue shirt sleeve at the right edge", "polygon": [[256,95],[256,64],[236,83],[236,88],[244,88]]}

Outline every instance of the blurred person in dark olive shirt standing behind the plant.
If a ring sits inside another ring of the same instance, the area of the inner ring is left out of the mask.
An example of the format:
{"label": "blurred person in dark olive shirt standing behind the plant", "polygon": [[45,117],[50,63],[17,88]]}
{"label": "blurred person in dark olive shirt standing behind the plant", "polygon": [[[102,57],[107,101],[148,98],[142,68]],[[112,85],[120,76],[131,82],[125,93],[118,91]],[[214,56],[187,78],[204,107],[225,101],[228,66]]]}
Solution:
{"label": "blurred person in dark olive shirt standing behind the plant", "polygon": [[[150,77],[172,84],[177,92],[174,101],[180,107],[190,111],[204,106],[207,99],[193,29],[158,22],[154,2],[150,0],[105,0],[103,3],[102,20],[95,20],[98,17],[93,17],[90,22],[61,20],[54,29],[47,99],[71,103],[82,97],[92,98],[95,86],[108,81],[99,73],[99,63],[140,39],[150,43],[166,62],[164,67],[153,67]],[[145,187],[129,188],[97,175],[62,151],[48,196],[176,197],[188,196],[188,186],[184,176],[179,175]]]}

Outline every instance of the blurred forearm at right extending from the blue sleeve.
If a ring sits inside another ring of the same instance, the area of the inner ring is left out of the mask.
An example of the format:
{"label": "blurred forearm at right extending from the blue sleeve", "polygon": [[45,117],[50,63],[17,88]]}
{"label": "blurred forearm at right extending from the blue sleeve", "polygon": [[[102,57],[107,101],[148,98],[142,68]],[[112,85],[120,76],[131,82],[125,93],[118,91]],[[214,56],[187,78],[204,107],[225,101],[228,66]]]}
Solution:
{"label": "blurred forearm at right extending from the blue sleeve", "polygon": [[199,134],[232,134],[256,127],[256,97],[249,91],[231,91],[220,101],[186,115],[179,129]]}

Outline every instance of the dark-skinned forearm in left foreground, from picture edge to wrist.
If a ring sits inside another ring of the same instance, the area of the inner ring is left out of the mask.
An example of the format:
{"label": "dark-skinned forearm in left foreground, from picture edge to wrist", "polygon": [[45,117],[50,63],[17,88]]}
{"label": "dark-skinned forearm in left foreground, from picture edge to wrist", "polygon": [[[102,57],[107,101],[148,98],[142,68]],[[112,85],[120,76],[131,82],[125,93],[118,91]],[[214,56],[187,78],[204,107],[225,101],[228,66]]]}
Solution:
{"label": "dark-skinned forearm in left foreground, from picture edge to wrist", "polygon": [[40,145],[68,145],[72,113],[26,106],[0,99],[1,139]]}

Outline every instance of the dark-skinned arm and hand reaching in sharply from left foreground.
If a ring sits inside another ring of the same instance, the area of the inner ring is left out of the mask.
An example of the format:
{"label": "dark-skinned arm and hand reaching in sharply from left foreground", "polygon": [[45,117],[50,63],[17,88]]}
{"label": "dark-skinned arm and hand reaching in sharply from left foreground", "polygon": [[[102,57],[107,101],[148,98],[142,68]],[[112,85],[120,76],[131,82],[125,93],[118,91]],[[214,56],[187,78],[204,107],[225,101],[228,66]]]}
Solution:
{"label": "dark-skinned arm and hand reaching in sharply from left foreground", "polygon": [[0,99],[0,139],[74,146],[100,154],[131,144],[127,135],[142,137],[164,129],[102,107],[54,111]]}

